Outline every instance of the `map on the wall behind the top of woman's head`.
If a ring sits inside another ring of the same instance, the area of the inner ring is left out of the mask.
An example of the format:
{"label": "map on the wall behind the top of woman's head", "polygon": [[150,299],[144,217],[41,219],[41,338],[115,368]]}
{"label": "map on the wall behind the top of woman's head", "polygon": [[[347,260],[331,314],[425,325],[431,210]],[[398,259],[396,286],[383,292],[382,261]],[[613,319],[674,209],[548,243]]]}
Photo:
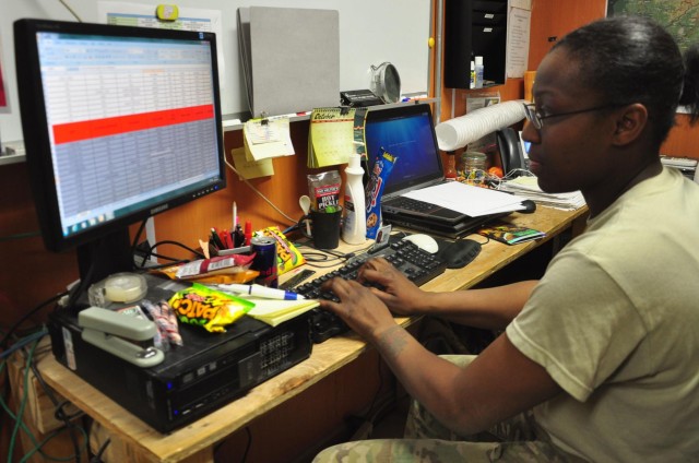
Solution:
{"label": "map on the wall behind the top of woman's head", "polygon": [[670,32],[685,51],[699,41],[699,0],[608,0],[607,16],[632,14],[650,17]]}

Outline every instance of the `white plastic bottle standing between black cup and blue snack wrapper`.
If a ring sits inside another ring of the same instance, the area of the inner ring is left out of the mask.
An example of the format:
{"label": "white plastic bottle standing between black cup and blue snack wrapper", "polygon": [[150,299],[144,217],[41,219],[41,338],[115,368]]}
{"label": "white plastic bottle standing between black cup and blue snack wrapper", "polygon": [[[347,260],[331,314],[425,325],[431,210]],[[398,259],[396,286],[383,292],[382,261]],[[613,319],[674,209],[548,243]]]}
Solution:
{"label": "white plastic bottle standing between black cup and blue snack wrapper", "polygon": [[367,239],[367,222],[364,198],[364,169],[358,154],[350,155],[345,169],[345,219],[342,225],[342,240],[348,245],[360,245]]}

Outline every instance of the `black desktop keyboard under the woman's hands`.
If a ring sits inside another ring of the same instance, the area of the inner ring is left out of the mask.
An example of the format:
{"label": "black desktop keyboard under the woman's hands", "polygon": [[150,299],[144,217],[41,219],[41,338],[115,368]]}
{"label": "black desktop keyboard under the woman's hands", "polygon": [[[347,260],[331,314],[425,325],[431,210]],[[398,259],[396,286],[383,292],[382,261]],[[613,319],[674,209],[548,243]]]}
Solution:
{"label": "black desktop keyboard under the woman's hands", "polygon": [[[323,290],[321,285],[335,276],[341,276],[345,280],[355,280],[359,266],[372,257],[386,258],[386,260],[391,262],[393,266],[418,286],[440,275],[447,269],[447,262],[440,260],[436,254],[424,251],[411,241],[400,240],[392,242],[389,247],[376,253],[357,256],[340,269],[295,287],[294,292],[304,295],[307,299],[339,301],[340,298],[337,298],[334,293]],[[339,317],[320,308],[311,310],[310,323],[311,340],[316,344],[322,343],[348,330],[347,325]]]}

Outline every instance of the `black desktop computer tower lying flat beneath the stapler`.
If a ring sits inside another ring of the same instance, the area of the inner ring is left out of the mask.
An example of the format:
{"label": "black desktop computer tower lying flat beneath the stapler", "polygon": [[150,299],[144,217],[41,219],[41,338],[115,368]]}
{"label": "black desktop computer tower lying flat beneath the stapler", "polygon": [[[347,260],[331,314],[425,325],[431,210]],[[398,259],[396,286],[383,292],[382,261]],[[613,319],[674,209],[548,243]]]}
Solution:
{"label": "black desktop computer tower lying flat beneath the stapler", "polygon": [[225,333],[180,324],[183,345],[173,346],[162,364],[142,368],[81,336],[76,313],[50,316],[57,360],[161,432],[169,432],[245,395],[250,389],[308,358],[307,316],[277,327],[249,317]]}

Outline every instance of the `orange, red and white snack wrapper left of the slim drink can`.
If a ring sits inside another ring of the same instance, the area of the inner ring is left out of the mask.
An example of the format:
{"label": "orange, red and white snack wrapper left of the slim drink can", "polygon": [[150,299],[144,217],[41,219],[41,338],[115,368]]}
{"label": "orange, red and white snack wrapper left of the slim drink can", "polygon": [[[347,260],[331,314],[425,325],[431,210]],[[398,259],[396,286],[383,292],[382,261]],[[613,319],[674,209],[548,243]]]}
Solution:
{"label": "orange, red and white snack wrapper left of the slim drink can", "polygon": [[199,283],[248,283],[260,272],[250,270],[254,256],[230,254],[201,259],[179,265],[157,270],[171,280],[196,281]]}

